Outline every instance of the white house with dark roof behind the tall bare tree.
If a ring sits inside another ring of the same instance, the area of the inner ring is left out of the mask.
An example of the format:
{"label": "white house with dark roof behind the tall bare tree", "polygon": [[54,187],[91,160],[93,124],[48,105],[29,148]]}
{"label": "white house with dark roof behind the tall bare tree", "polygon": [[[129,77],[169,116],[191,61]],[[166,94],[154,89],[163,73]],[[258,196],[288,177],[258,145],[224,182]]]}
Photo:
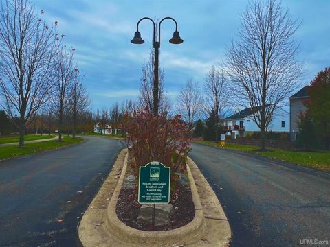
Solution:
{"label": "white house with dark roof behind the tall bare tree", "polygon": [[[260,107],[245,108],[239,113],[235,113],[230,117],[224,119],[223,128],[226,131],[225,134],[232,135],[232,137],[247,137],[253,132],[259,132],[260,128],[254,121],[253,114],[256,110],[260,110]],[[267,128],[267,131],[272,132],[289,132],[289,120],[290,116],[286,110],[276,109],[272,122]]]}

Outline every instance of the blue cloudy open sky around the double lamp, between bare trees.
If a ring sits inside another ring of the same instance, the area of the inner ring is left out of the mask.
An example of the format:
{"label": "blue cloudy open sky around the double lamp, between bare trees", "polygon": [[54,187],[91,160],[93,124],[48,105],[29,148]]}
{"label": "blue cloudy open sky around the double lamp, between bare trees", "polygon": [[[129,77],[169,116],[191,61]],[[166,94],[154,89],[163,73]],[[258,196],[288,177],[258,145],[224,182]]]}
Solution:
{"label": "blue cloudy open sky around the double lamp, between bare trees", "polygon": [[[189,78],[203,86],[206,73],[223,60],[225,49],[239,29],[241,13],[248,1],[97,1],[32,0],[36,10],[44,10],[44,19],[58,21],[58,32],[65,34],[65,44],[76,48],[80,72],[93,108],[109,107],[124,99],[136,99],[141,67],[148,59],[152,25],[142,21],[140,32],[144,45],[130,40],[137,21],[148,16],[171,16],[178,23],[184,43],[172,45],[175,25],[162,24],[160,65],[165,73],[165,91],[175,101]],[[283,1],[294,19],[303,21],[296,40],[300,43],[299,60],[305,61],[305,84],[316,73],[330,66],[330,21],[328,0]],[[297,89],[298,90],[298,89]]]}

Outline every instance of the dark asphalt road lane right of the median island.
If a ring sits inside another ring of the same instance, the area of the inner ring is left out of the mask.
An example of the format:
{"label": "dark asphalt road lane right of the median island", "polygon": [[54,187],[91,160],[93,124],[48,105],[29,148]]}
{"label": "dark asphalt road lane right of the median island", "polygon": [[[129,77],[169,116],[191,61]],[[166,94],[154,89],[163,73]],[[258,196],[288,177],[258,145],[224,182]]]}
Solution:
{"label": "dark asphalt road lane right of the median island", "polygon": [[197,143],[190,157],[228,216],[230,246],[330,246],[329,172]]}

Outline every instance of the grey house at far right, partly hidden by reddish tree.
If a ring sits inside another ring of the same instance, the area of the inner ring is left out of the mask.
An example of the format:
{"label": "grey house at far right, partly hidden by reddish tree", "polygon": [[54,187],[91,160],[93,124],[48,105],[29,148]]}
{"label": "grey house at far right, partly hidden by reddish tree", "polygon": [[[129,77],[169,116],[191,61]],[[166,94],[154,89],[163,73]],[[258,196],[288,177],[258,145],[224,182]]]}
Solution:
{"label": "grey house at far right, partly hidden by reddish tree", "polygon": [[296,140],[298,133],[298,125],[300,123],[300,113],[307,110],[303,101],[308,98],[308,89],[310,86],[304,86],[297,93],[289,97],[290,99],[290,136],[292,141]]}

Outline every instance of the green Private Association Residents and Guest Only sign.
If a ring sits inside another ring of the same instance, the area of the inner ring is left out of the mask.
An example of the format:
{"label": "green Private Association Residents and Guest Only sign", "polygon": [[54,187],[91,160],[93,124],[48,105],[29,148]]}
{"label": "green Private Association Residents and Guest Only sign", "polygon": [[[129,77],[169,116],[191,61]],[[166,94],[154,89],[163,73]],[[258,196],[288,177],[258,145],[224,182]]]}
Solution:
{"label": "green Private Association Residents and Guest Only sign", "polygon": [[141,204],[170,202],[170,167],[157,161],[140,167],[138,202]]}

